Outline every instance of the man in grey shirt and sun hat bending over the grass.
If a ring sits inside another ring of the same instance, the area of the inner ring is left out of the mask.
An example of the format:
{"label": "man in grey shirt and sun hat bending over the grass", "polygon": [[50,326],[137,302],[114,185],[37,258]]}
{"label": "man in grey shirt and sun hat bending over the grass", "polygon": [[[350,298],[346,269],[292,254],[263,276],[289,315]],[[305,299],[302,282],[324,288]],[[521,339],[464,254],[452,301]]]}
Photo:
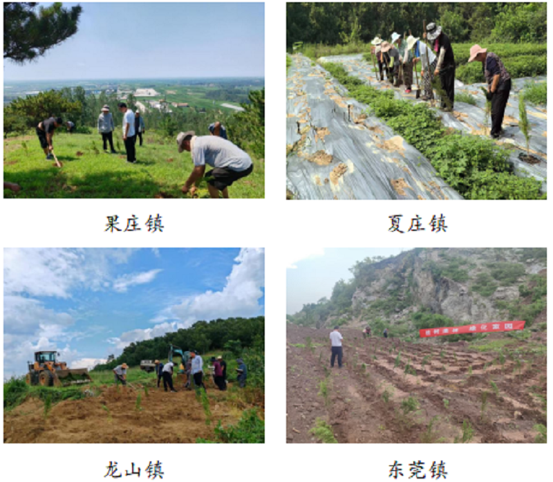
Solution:
{"label": "man in grey shirt and sun hat bending over the grass", "polygon": [[[182,192],[194,194],[194,184],[205,176],[209,196],[219,198],[229,197],[228,187],[235,180],[252,174],[254,165],[252,159],[242,149],[229,140],[218,136],[196,136],[194,131],[181,132],[177,136],[178,151],[189,151],[192,155],[194,169],[192,170]],[[205,174],[205,165],[213,169]]]}

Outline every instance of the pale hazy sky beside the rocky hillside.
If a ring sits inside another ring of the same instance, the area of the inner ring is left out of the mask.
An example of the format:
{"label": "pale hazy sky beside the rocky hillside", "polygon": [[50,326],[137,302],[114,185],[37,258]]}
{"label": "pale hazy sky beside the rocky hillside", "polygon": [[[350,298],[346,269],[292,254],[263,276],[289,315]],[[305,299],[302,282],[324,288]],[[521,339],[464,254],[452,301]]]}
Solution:
{"label": "pale hazy sky beside the rocky hillside", "polygon": [[339,279],[351,279],[351,268],[366,257],[400,254],[411,248],[307,248],[288,253],[286,260],[286,313],[293,315],[303,304],[330,297]]}

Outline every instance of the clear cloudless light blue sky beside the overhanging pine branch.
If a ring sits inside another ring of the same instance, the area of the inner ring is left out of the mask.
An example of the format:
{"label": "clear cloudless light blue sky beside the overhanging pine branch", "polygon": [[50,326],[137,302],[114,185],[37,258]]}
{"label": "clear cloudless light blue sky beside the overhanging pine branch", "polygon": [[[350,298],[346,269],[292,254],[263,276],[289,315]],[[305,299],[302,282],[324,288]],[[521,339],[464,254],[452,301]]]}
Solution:
{"label": "clear cloudless light blue sky beside the overhanging pine branch", "polygon": [[4,60],[4,79],[264,77],[263,3],[81,6],[73,37],[37,62]]}

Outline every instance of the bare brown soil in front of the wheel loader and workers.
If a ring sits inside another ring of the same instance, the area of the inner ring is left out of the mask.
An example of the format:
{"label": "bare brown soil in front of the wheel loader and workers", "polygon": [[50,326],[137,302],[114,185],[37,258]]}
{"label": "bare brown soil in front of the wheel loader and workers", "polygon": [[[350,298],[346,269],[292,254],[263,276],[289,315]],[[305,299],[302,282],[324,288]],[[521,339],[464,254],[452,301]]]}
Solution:
{"label": "bare brown soil in front of the wheel loader and workers", "polygon": [[[140,409],[136,398],[141,395]],[[234,425],[250,408],[230,392],[208,389],[211,425],[194,391],[165,392],[102,387],[99,396],[66,400],[44,417],[44,403],[30,398],[4,412],[4,443],[194,443],[214,438],[218,420]],[[213,398],[212,398],[213,396]],[[105,408],[104,408],[105,407]]]}

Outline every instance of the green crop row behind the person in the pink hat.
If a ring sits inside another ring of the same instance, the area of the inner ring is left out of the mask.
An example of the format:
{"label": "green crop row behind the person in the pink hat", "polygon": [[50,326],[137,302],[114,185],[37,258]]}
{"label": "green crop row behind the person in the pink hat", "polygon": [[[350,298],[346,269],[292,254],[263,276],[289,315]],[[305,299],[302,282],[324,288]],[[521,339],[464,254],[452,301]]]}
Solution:
{"label": "green crop row behind the person in the pink hat", "polygon": [[[512,79],[535,77],[547,73],[547,55],[520,55],[503,59],[503,64],[505,64],[505,68],[507,68]],[[465,84],[485,82],[480,62],[471,62],[458,67],[455,77]]]}

